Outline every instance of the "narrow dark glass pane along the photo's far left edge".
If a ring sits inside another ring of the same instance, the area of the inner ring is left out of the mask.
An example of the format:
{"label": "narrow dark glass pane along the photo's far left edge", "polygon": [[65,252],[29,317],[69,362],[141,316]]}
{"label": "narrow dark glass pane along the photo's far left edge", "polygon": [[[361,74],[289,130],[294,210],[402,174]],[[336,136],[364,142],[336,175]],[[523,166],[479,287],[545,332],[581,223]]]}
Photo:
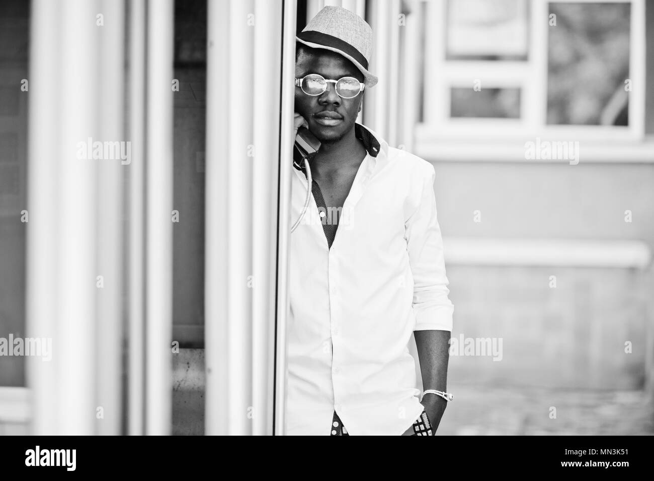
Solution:
{"label": "narrow dark glass pane along the photo's far left edge", "polygon": [[[0,2],[0,343],[7,352],[26,337],[29,9],[26,1]],[[25,359],[0,355],[0,387],[25,385]],[[0,433],[9,433],[7,426],[0,419]]]}

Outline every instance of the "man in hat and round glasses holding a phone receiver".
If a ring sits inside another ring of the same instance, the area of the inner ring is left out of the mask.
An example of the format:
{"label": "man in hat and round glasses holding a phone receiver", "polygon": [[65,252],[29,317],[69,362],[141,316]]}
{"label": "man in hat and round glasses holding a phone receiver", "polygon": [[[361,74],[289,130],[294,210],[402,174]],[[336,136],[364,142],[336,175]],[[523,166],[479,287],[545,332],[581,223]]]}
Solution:
{"label": "man in hat and round glasses holding a phone receiver", "polygon": [[[288,435],[432,435],[447,399],[448,298],[432,164],[356,116],[372,31],[325,7],[297,37],[296,131],[320,141],[291,234]],[[292,222],[307,171],[294,163]],[[319,219],[319,221],[315,221]],[[411,333],[424,389],[416,387]]]}

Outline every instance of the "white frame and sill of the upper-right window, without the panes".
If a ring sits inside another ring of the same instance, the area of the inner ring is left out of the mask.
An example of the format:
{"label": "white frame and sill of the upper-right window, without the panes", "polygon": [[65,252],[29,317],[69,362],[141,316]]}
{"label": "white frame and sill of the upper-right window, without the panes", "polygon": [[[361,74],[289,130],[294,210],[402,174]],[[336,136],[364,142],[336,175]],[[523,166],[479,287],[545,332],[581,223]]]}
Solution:
{"label": "white frame and sill of the upper-right window, without the panes", "polygon": [[[548,125],[547,62],[550,3],[630,3],[628,126]],[[645,2],[644,0],[533,0],[529,4],[530,37],[526,60],[447,60],[447,2],[426,1],[424,50],[424,118],[415,128],[417,153],[442,160],[525,160],[524,142],[542,140],[585,142],[585,160],[625,159],[625,147],[636,159],[654,162],[651,141],[645,143]],[[481,77],[481,78],[480,78]],[[451,118],[450,89],[520,88],[521,118]],[[431,86],[431,87],[428,87]],[[602,149],[598,144],[608,143]],[[470,143],[479,149],[464,151]],[[518,149],[515,146],[518,145]],[[443,155],[449,152],[450,157]],[[483,148],[487,147],[487,149]],[[606,149],[609,149],[606,151]],[[495,151],[487,159],[487,151]]]}

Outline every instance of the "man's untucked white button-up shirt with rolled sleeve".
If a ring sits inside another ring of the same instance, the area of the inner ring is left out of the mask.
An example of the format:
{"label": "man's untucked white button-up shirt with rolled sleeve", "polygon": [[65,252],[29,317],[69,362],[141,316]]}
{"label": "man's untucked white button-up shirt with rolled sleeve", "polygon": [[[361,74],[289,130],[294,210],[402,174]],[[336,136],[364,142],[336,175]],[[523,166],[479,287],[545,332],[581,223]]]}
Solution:
{"label": "man's untucked white button-up shirt with rolled sleeve", "polygon": [[[408,343],[452,330],[434,166],[356,124],[368,154],[328,246],[313,195],[290,235],[287,435],[402,435],[422,412]],[[294,223],[307,181],[294,168]]]}

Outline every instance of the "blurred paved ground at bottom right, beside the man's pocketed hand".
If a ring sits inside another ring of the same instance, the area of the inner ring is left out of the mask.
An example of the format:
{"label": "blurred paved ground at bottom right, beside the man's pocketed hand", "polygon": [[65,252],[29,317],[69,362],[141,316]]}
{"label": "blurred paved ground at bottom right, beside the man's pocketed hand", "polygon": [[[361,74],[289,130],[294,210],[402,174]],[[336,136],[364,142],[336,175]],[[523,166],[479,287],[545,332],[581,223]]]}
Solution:
{"label": "blurred paved ground at bottom right, beside the man's pocketed hand", "polygon": [[456,398],[441,435],[654,435],[654,403],[643,391],[460,385],[450,390]]}

